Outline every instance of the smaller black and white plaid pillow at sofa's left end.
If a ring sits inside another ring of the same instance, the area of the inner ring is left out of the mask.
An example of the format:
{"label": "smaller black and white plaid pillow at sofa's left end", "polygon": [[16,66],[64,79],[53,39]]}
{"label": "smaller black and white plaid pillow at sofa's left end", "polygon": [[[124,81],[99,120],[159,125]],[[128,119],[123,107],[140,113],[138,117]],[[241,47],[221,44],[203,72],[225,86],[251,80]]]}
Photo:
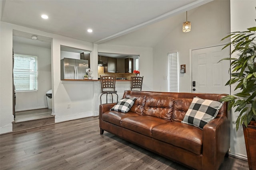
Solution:
{"label": "smaller black and white plaid pillow at sofa's left end", "polygon": [[132,105],[134,104],[136,98],[127,98],[121,99],[115,106],[113,106],[110,110],[112,111],[121,111],[123,113],[127,113]]}

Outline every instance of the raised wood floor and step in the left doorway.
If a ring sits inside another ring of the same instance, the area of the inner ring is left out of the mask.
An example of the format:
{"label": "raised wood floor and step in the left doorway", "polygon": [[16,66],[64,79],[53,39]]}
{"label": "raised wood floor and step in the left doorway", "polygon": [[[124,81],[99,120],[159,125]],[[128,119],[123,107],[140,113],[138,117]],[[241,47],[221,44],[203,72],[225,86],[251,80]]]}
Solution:
{"label": "raised wood floor and step in the left doorway", "polygon": [[17,111],[12,122],[12,131],[19,131],[43,125],[50,125],[55,122],[55,116],[51,115],[52,109],[34,109]]}

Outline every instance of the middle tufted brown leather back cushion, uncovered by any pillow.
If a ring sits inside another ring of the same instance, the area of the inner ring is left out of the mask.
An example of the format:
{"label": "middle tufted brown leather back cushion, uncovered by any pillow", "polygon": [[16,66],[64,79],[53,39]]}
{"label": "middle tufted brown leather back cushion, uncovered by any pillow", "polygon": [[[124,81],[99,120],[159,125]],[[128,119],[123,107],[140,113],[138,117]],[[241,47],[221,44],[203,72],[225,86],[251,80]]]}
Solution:
{"label": "middle tufted brown leather back cushion, uncovered by any pillow", "polygon": [[146,97],[143,115],[159,117],[171,121],[174,98],[172,97]]}

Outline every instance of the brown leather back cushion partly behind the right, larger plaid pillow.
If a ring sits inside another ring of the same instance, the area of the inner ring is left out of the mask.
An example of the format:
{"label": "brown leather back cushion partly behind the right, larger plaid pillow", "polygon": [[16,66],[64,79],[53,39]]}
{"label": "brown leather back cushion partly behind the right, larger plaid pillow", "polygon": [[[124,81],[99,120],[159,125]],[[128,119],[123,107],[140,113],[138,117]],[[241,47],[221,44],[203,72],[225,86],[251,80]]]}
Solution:
{"label": "brown leather back cushion partly behind the right, larger plaid pillow", "polygon": [[191,104],[193,99],[175,99],[174,108],[172,113],[172,121],[181,122],[184,119],[186,112]]}

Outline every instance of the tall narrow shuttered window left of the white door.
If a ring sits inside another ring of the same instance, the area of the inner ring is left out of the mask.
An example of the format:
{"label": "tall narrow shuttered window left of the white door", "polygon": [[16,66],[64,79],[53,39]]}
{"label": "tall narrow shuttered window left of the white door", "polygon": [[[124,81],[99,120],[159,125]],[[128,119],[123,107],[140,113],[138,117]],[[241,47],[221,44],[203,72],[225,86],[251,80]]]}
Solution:
{"label": "tall narrow shuttered window left of the white door", "polygon": [[169,92],[178,92],[178,51],[172,51],[169,57]]}

